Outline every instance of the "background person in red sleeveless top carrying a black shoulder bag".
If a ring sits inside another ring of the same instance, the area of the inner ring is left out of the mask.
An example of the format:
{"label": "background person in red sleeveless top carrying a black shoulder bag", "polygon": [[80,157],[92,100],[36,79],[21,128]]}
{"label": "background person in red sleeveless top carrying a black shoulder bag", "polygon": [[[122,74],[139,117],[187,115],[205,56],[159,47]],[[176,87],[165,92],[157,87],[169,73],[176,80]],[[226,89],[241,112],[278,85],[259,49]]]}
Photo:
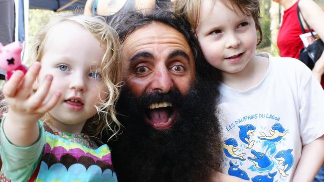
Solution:
{"label": "background person in red sleeveless top carrying a black shoulder bag", "polygon": [[[324,39],[323,9],[313,0],[273,0],[285,8],[282,25],[279,29],[277,44],[281,57],[293,57],[298,59],[300,50],[304,47],[299,35],[303,34],[298,21],[297,5],[307,21],[307,23],[317,31],[318,35]],[[306,23],[303,22],[304,27]],[[307,29],[307,28],[305,28]],[[308,30],[306,30],[308,32]],[[321,82],[324,88],[324,54],[316,62],[313,74]]]}

